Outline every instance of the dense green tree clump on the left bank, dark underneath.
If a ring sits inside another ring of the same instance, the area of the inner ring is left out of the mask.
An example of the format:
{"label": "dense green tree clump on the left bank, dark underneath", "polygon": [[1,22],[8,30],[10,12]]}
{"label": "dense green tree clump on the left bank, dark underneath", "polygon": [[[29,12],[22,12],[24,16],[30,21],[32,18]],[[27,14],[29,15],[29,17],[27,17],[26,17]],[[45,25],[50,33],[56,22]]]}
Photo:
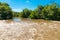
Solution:
{"label": "dense green tree clump on the left bank, dark underneath", "polygon": [[12,10],[7,3],[0,2],[0,19],[11,19]]}

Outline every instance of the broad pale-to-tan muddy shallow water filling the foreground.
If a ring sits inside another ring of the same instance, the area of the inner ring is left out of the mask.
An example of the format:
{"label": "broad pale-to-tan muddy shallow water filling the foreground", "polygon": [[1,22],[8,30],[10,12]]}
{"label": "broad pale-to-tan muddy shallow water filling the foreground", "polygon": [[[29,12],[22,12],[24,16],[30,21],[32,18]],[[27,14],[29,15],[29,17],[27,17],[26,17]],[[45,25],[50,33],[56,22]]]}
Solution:
{"label": "broad pale-to-tan muddy shallow water filling the foreground", "polygon": [[60,21],[0,20],[0,40],[60,40]]}

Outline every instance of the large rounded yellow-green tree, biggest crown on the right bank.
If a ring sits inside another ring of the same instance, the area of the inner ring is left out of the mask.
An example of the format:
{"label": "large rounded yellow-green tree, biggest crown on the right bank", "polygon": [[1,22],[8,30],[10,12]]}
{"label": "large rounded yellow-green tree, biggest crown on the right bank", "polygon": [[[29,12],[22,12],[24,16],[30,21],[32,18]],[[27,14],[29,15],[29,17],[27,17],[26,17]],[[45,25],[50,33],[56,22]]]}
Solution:
{"label": "large rounded yellow-green tree, biggest crown on the right bank", "polygon": [[42,10],[42,15],[44,19],[51,19],[51,20],[57,20],[58,19],[58,13],[57,13],[57,5],[51,4],[44,7]]}

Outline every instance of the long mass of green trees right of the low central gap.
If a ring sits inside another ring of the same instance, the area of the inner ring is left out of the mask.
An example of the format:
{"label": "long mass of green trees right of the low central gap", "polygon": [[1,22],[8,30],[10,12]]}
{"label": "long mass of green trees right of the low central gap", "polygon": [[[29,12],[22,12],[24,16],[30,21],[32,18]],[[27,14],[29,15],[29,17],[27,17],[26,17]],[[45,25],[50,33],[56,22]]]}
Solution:
{"label": "long mass of green trees right of the low central gap", "polygon": [[56,3],[46,6],[39,5],[33,11],[25,9],[21,15],[23,18],[60,20],[60,6]]}

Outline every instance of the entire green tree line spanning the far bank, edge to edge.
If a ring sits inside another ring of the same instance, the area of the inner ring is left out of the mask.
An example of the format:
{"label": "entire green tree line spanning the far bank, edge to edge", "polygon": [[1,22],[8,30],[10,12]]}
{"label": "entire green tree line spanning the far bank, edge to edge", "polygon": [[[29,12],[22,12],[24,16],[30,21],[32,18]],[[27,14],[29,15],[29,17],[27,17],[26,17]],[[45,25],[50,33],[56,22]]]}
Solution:
{"label": "entire green tree line spanning the far bank, edge to edge", "polygon": [[39,5],[34,10],[27,8],[22,12],[14,12],[7,3],[0,2],[0,19],[12,19],[13,17],[60,20],[60,6],[56,3],[49,5]]}

